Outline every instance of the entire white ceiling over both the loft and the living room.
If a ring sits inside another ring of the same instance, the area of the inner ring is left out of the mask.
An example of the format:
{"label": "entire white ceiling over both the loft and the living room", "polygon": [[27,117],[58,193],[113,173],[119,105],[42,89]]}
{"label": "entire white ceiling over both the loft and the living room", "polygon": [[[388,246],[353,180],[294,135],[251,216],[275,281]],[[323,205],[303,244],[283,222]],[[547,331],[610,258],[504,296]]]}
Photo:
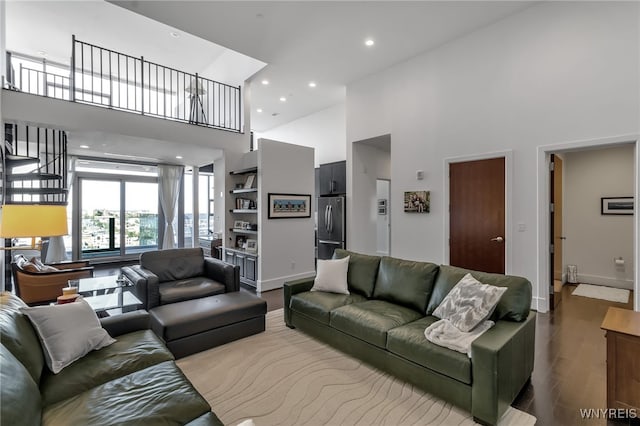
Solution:
{"label": "entire white ceiling over both the loft and the living room", "polygon": [[187,72],[216,72],[205,76],[219,81],[249,78],[251,128],[262,132],[344,102],[348,83],[532,3],[9,0],[6,44],[68,63],[75,34]]}

